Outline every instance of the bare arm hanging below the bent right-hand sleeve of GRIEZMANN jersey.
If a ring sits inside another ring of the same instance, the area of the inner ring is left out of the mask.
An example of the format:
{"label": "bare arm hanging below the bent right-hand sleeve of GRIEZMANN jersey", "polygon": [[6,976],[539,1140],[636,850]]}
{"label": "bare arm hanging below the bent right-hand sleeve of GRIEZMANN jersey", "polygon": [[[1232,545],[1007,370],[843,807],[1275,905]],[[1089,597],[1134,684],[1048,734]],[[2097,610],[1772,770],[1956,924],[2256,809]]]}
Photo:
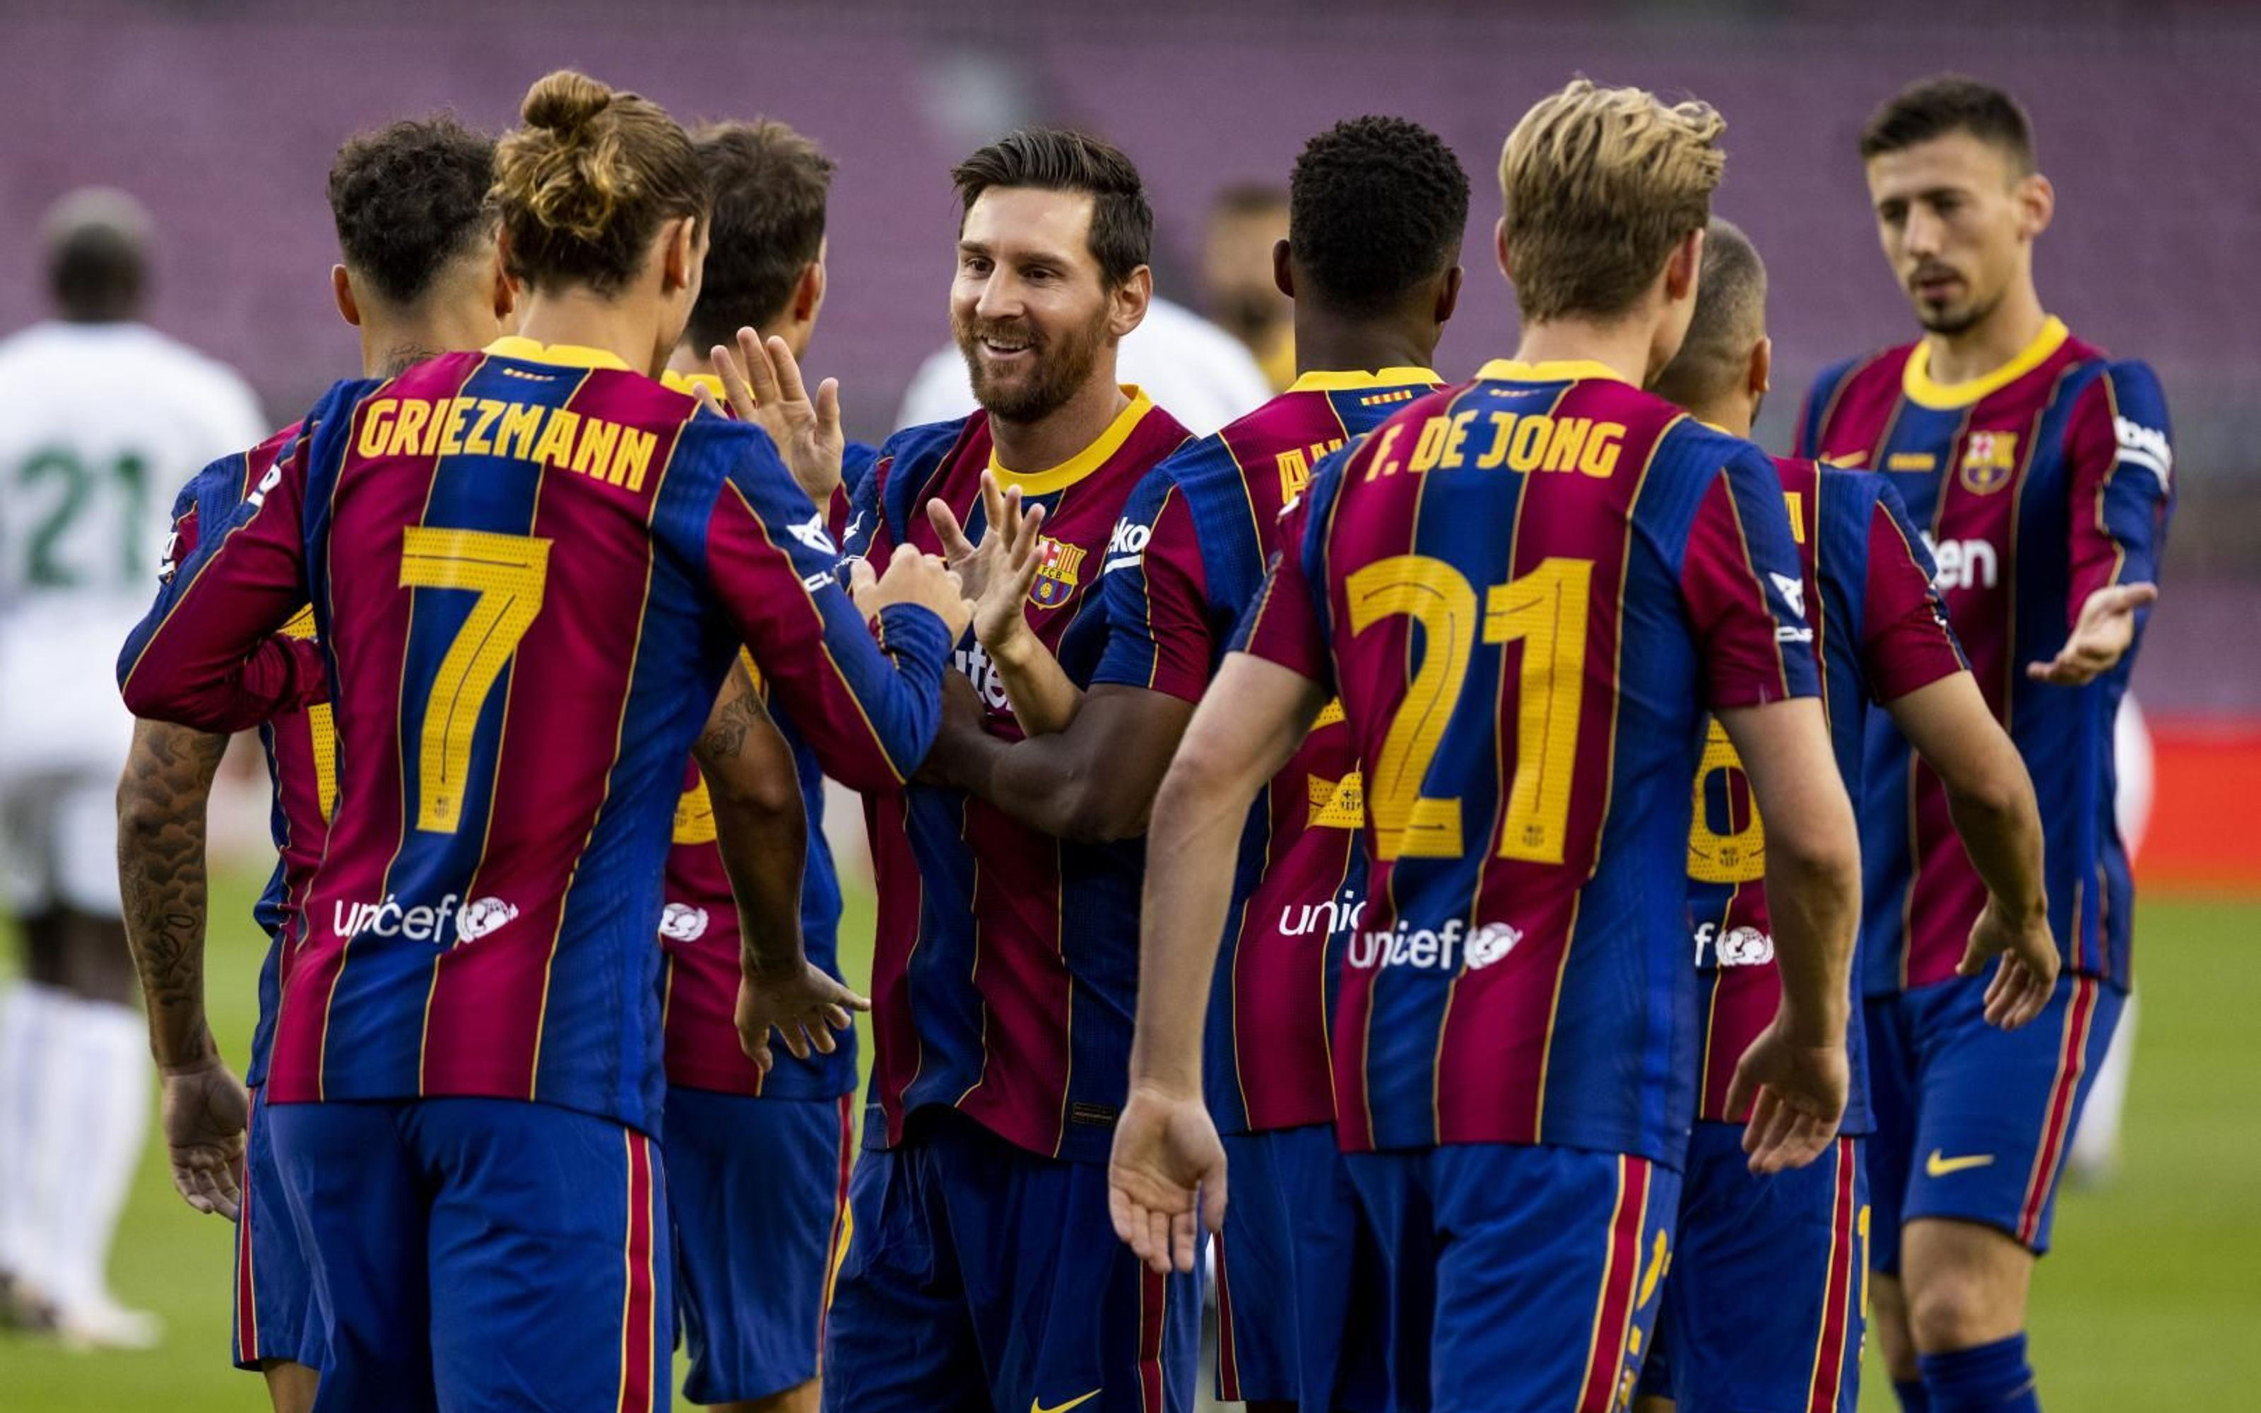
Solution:
{"label": "bare arm hanging below the bent right-hand sleeve of GRIEZMANN jersey", "polygon": [[800,800],[794,751],[762,710],[753,678],[733,665],[692,755],[714,805],[730,893],[737,895],[739,990],[737,1033],[764,1072],[769,1031],[785,1035],[796,1058],[832,1051],[832,1031],[848,1029],[848,1008],[868,1008],[800,950],[800,868],[809,818]]}

